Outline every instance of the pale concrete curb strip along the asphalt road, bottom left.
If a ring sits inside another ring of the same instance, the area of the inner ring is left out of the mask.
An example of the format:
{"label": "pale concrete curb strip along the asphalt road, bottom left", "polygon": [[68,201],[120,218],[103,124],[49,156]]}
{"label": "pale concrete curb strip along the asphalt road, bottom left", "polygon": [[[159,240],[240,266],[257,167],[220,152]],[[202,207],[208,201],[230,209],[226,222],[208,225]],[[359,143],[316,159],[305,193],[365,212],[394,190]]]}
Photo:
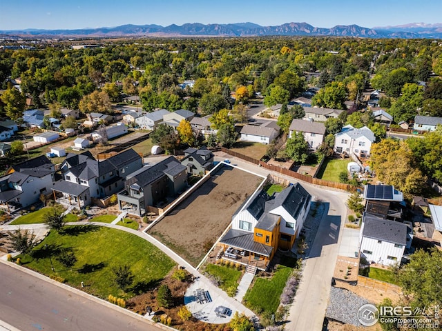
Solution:
{"label": "pale concrete curb strip along the asphalt road, bottom left", "polygon": [[[86,299],[95,301],[96,303],[100,303],[102,305],[106,305],[107,308],[111,308],[117,312],[122,312],[124,314],[126,314],[129,317],[133,317],[135,319],[138,319],[139,321],[144,321],[147,322],[153,326],[155,326],[156,328],[162,329],[162,330],[177,330],[175,328],[171,328],[170,326],[161,324],[161,323],[155,323],[153,321],[151,321],[150,319],[146,319],[144,316],[137,314],[136,312],[132,312],[131,310],[127,310],[125,308],[121,308],[117,305],[114,305],[113,303],[110,303],[106,300],[103,299],[99,299],[98,297],[93,296],[92,294],[88,294],[86,292],[83,292],[81,290],[77,290],[76,288],[72,288],[66,284],[60,283],[59,281],[55,281],[54,279],[50,279],[49,277],[44,276],[43,274],[39,274],[38,272],[35,272],[33,270],[29,270],[28,268],[24,268],[24,267],[20,267],[19,265],[13,263],[13,262],[9,262],[9,261],[4,261],[3,259],[0,259],[0,263],[4,263],[6,265],[9,265],[12,268],[15,268],[17,270],[20,270],[21,272],[26,272],[27,274],[29,274],[32,277],[36,277],[38,279],[40,279],[41,281],[46,281],[48,283],[52,283],[52,285],[56,285],[59,286],[60,288],[64,288],[64,290],[68,290],[70,292],[73,292],[81,297],[84,297]],[[0,321],[0,326],[2,325],[3,321]],[[10,325],[9,325],[10,326]],[[8,329],[6,329],[8,330]],[[18,330],[16,328],[12,328],[12,331],[14,330]]]}

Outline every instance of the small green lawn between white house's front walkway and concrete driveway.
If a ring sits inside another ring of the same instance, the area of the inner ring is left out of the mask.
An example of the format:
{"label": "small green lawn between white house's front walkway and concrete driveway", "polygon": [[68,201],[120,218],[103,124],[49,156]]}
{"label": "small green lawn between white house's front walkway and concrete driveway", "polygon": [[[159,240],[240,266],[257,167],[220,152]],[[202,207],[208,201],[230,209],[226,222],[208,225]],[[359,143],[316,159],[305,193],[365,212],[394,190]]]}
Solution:
{"label": "small green lawn between white house's front walkway and concrete driveway", "polygon": [[244,305],[258,314],[274,314],[278,310],[280,295],[296,262],[291,260],[287,261],[286,265],[278,265],[270,279],[256,279],[253,288],[249,288],[244,296]]}

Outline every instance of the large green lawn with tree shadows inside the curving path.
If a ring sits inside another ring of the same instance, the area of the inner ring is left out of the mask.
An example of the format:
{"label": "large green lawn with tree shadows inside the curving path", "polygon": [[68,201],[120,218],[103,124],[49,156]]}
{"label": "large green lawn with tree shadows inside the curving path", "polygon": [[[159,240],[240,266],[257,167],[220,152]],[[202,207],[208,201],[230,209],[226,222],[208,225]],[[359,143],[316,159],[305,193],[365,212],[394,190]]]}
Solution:
{"label": "large green lawn with tree shadows inside the curving path", "polygon": [[[75,253],[77,262],[73,270],[57,261],[61,250]],[[83,281],[83,290],[103,299],[107,299],[109,294],[128,298],[148,292],[175,266],[175,262],[148,241],[127,232],[95,225],[71,225],[62,234],[51,231],[31,254],[20,257],[27,268],[61,277],[75,287],[80,287]],[[50,258],[55,273],[51,270]],[[126,295],[113,281],[113,268],[118,265],[129,265],[135,276]]]}

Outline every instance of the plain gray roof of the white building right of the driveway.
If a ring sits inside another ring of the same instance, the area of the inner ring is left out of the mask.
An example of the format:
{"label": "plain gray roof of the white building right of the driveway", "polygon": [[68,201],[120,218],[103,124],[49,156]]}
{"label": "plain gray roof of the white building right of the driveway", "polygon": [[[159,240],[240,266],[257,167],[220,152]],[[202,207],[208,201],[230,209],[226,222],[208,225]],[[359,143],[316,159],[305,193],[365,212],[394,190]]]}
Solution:
{"label": "plain gray roof of the white building right of the driveway", "polygon": [[407,225],[365,214],[363,237],[407,245]]}

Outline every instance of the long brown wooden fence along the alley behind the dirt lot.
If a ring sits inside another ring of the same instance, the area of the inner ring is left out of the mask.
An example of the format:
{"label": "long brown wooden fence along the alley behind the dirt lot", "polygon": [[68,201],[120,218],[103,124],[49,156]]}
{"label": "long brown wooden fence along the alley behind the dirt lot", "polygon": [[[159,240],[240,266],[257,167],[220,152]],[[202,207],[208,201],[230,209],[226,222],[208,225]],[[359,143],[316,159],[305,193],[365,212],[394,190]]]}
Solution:
{"label": "long brown wooden fence along the alley behind the dirt lot", "polygon": [[286,168],[282,168],[279,165],[273,165],[268,164],[264,161],[260,161],[257,159],[253,159],[253,157],[248,157],[247,155],[234,152],[233,150],[229,150],[228,148],[220,148],[215,149],[214,151],[221,151],[226,154],[231,155],[232,157],[238,157],[238,159],[242,159],[244,161],[248,161],[251,163],[254,163],[256,165],[260,165],[262,168],[266,168],[268,170],[279,172],[280,174],[285,174],[286,176],[293,177],[295,179],[298,179],[300,181],[305,181],[307,183],[315,184],[315,185],[321,185],[321,186],[327,186],[329,188],[338,188],[340,190],[347,190],[350,192],[356,191],[356,188],[353,185],[345,184],[345,183],[335,183],[334,181],[324,181],[323,179],[318,179],[310,176],[306,176],[305,174],[298,174],[298,172],[289,170]]}

